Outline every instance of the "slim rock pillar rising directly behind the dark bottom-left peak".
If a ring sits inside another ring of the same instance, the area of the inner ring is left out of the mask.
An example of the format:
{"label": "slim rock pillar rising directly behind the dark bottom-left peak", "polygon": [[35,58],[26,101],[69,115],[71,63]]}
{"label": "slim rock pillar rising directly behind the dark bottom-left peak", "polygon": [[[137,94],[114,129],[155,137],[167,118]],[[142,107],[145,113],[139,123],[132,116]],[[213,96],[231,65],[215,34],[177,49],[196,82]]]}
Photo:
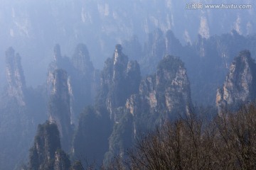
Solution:
{"label": "slim rock pillar rising directly behind the dark bottom-left peak", "polygon": [[63,69],[53,72],[53,89],[50,95],[48,114],[50,123],[56,123],[60,131],[63,149],[68,150],[71,144],[71,110],[70,110],[70,86],[68,75]]}

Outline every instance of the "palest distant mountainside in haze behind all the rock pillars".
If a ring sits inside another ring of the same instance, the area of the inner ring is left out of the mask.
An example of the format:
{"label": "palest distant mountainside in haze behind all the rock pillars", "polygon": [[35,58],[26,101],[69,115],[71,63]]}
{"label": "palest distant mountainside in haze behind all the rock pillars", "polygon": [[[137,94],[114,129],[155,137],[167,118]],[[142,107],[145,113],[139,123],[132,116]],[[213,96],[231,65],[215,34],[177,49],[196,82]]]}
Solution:
{"label": "palest distant mountainside in haze behind all the rock pillars", "polygon": [[[187,9],[191,1],[1,1],[1,50],[13,46],[23,57],[28,84],[43,81],[33,77],[33,69],[46,77],[52,47],[59,43],[63,54],[71,55],[75,44],[87,45],[95,67],[101,68],[112,47],[137,35],[144,43],[156,28],[172,30],[182,44],[197,35],[255,33],[255,1],[196,1],[202,4],[252,4],[250,9]],[[1,68],[4,67],[1,60]],[[1,79],[4,77],[1,71]]]}

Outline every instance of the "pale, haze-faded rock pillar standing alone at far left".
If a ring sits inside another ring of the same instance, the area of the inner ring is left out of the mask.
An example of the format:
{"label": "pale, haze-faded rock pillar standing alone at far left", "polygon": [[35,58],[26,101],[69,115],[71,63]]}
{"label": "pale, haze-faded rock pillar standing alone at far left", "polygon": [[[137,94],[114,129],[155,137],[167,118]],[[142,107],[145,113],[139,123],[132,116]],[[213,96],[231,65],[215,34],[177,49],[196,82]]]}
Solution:
{"label": "pale, haze-faded rock pillar standing alone at far left", "polygon": [[6,78],[8,82],[7,93],[16,98],[19,106],[25,106],[24,90],[26,89],[25,77],[21,67],[21,57],[12,47],[6,50]]}

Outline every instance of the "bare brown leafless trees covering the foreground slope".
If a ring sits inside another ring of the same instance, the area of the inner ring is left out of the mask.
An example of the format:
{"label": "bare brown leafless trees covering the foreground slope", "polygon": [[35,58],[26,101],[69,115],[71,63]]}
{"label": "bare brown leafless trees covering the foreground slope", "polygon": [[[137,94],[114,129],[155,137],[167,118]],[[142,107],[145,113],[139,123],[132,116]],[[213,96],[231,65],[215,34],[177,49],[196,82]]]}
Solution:
{"label": "bare brown leafless trees covering the foreground slope", "polygon": [[119,169],[255,169],[256,107],[207,121],[195,114],[138,137]]}

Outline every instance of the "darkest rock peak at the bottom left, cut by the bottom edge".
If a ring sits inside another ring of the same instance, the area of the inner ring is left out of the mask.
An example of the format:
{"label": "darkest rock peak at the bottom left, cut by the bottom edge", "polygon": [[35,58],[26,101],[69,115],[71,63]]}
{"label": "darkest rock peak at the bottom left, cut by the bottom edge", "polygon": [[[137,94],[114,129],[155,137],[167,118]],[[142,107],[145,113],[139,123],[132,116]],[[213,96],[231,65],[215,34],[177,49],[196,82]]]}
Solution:
{"label": "darkest rock peak at the bottom left, cut by the bottom edge", "polygon": [[38,125],[29,154],[29,169],[65,170],[70,168],[67,154],[61,150],[60,134],[54,123]]}

